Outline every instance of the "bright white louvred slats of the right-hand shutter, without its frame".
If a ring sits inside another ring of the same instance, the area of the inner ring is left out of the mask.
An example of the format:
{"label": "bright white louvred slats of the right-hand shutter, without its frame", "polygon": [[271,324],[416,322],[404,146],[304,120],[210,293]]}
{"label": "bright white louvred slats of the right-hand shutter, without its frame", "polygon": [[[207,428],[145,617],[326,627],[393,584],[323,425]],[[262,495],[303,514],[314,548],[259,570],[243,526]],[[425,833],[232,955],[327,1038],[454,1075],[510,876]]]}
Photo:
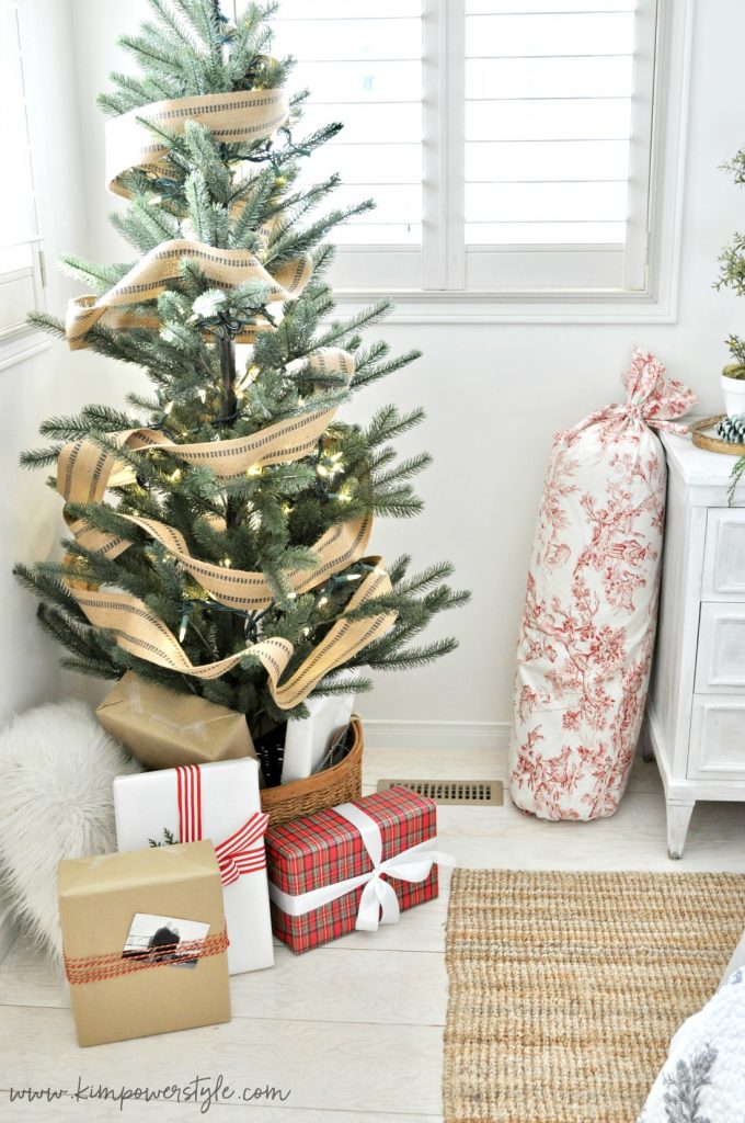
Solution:
{"label": "bright white louvred slats of the right-hand shutter, without its frame", "polygon": [[635,4],[466,0],[469,245],[626,241]]}

